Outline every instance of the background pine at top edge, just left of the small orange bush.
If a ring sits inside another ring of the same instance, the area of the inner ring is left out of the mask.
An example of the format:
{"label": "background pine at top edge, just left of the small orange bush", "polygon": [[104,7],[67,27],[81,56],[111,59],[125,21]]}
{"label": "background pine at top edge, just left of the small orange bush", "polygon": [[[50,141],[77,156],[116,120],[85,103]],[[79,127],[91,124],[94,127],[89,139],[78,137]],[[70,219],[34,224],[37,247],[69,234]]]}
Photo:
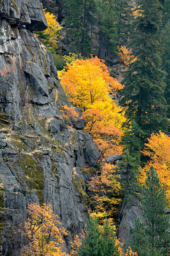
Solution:
{"label": "background pine at top edge, just left of the small orange bush", "polygon": [[108,51],[117,52],[115,0],[95,0],[95,5],[99,31],[98,57],[101,58],[103,55],[107,56]]}

